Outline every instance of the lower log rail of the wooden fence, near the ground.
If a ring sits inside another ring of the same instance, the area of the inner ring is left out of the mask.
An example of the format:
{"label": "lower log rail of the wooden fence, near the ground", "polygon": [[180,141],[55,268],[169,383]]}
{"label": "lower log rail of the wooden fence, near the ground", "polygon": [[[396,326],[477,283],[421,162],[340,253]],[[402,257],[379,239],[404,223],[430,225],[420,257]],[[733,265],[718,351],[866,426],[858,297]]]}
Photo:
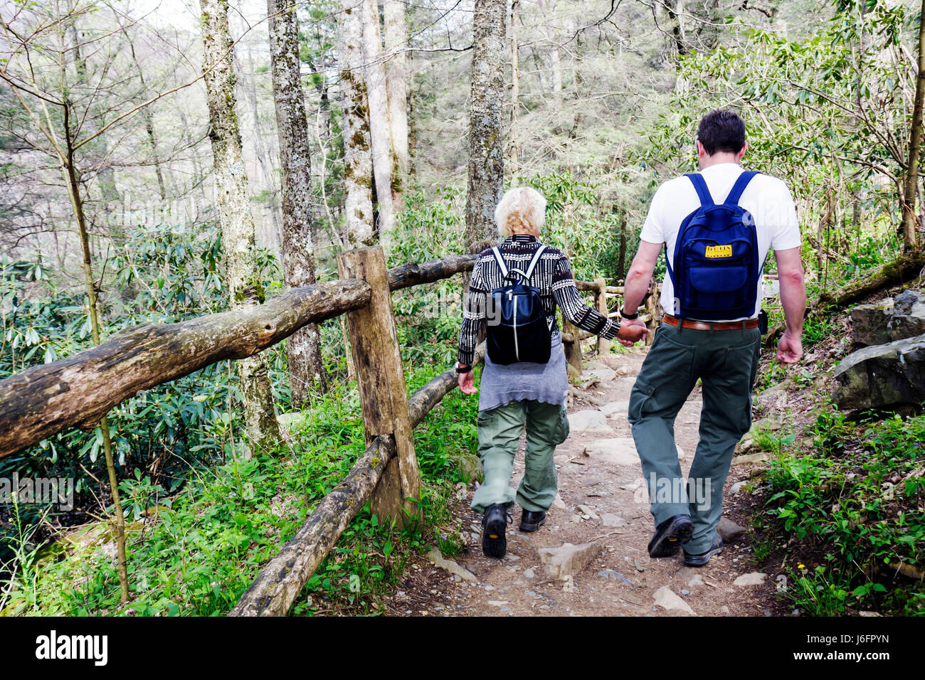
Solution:
{"label": "lower log rail of the wooden fence, near the ground", "polygon": [[[484,345],[475,352],[477,364]],[[444,371],[408,399],[408,414],[416,427],[451,389],[455,388],[456,371]],[[314,512],[265,564],[260,574],[229,612],[229,616],[285,616],[312,577],[318,565],[334,548],[341,534],[360,512],[395,455],[395,441],[390,436],[373,439],[350,474],[318,503]]]}

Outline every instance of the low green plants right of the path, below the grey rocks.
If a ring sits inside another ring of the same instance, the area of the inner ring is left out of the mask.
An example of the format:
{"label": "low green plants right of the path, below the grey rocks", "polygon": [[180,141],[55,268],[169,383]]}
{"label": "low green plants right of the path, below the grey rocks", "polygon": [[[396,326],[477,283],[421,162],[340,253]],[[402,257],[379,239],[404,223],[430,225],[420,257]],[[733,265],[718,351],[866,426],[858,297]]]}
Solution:
{"label": "low green plants right of the path, below the grey rocks", "polygon": [[765,516],[783,529],[780,540],[816,555],[785,560],[783,597],[816,615],[925,615],[925,584],[893,580],[898,563],[925,563],[925,415],[858,425],[823,404],[812,434],[810,451],[780,442],[766,476]]}

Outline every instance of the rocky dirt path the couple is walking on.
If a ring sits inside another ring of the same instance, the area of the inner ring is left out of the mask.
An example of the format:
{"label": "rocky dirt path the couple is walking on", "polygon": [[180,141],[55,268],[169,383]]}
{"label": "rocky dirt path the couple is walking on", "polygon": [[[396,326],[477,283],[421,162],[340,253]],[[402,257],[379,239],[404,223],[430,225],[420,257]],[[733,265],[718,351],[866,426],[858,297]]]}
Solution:
{"label": "rocky dirt path the couple is walking on", "polygon": [[[472,492],[456,514],[467,548],[450,561],[431,550],[429,561],[409,565],[389,610],[397,615],[771,615],[773,584],[756,573],[747,531],[727,540],[706,567],[685,567],[680,556],[648,557],[654,529],[648,493],[626,422],[630,390],[645,351],[603,357],[586,366],[597,385],[578,390],[569,409],[569,439],[556,451],[560,496],[536,533],[517,530],[512,508],[508,554],[481,550],[480,516],[469,509]],[[700,392],[678,415],[675,439],[687,471],[697,447]],[[523,475],[523,440],[512,483]],[[747,468],[734,464],[724,513],[736,516],[736,495],[747,487]],[[741,498],[741,496],[739,497]],[[743,523],[745,520],[740,518]],[[733,533],[742,527],[732,526]]]}

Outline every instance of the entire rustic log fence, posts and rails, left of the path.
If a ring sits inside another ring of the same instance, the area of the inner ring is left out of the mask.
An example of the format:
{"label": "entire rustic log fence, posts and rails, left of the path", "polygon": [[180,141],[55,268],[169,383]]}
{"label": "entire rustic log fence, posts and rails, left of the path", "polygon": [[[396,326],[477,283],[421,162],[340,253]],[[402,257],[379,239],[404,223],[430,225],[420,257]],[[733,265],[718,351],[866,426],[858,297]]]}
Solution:
{"label": "entire rustic log fence, posts and rails, left of the path", "polygon": [[[377,498],[390,496],[390,505],[379,501],[380,508],[397,508],[399,514],[414,516],[420,474],[412,430],[453,389],[456,374],[445,371],[404,400],[389,292],[471,270],[476,259],[474,254],[454,255],[387,272],[380,248],[341,253],[339,269],[344,278],[286,291],[239,310],[129,328],[67,359],[33,366],[0,380],[0,458],[68,427],[95,427],[108,411],[142,389],[222,360],[261,352],[307,324],[347,314],[351,354],[359,367],[367,448],[350,474],[265,564],[231,612],[283,615],[366,501],[373,501],[375,508]],[[595,292],[595,306],[605,314],[607,297],[623,292],[599,278],[577,285],[581,291]],[[577,347],[580,370],[582,336],[577,328],[566,326],[563,337],[572,340],[567,353]],[[476,361],[483,351],[479,349]],[[400,397],[395,397],[398,392]]]}

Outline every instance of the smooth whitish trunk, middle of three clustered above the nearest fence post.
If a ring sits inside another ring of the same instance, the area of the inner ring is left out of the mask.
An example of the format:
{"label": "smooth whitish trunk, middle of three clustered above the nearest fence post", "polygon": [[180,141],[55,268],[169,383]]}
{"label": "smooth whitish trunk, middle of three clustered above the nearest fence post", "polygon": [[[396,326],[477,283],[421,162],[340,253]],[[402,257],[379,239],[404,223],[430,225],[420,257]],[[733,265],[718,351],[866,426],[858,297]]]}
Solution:
{"label": "smooth whitish trunk, middle of three clustered above the nearest fence post", "polygon": [[388,92],[382,55],[382,33],[376,0],[363,0],[363,58],[366,99],[369,102],[369,139],[373,147],[373,178],[376,180],[376,211],[379,242],[388,247],[395,232],[395,204],[392,199],[392,134],[388,129]]}

